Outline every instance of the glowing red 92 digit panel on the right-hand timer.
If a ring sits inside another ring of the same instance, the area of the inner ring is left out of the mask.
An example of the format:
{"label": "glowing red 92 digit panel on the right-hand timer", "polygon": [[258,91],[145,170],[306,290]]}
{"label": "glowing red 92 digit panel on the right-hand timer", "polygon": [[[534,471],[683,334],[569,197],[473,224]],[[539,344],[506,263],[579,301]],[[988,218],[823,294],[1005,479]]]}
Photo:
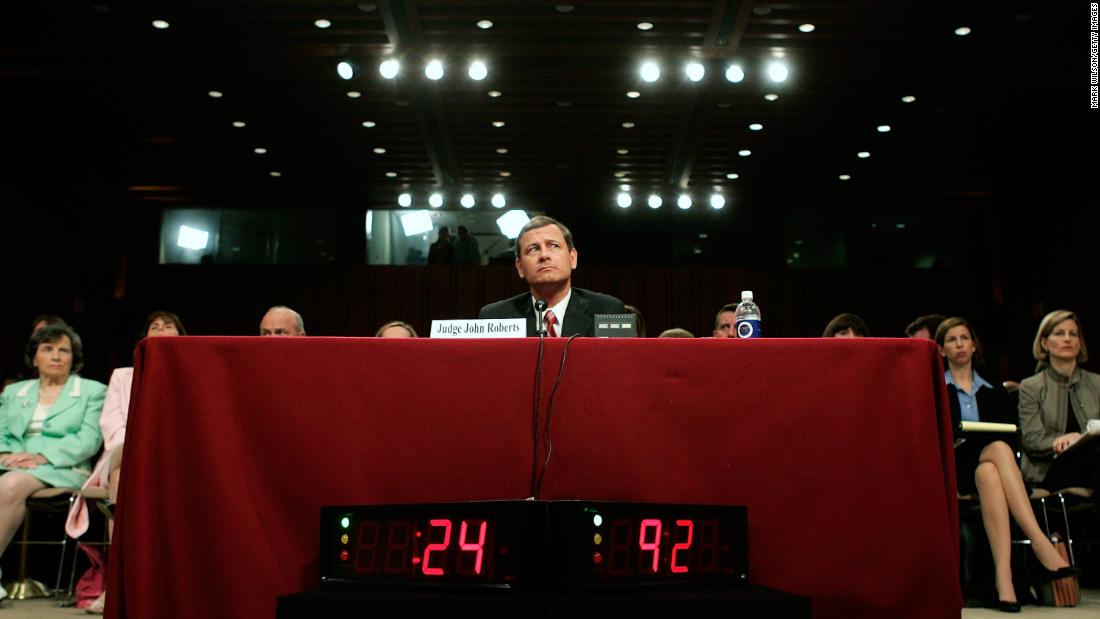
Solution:
{"label": "glowing red 92 digit panel on the right-hand timer", "polygon": [[[697,529],[697,530],[696,530]],[[608,576],[718,571],[718,521],[658,518],[612,520]]]}

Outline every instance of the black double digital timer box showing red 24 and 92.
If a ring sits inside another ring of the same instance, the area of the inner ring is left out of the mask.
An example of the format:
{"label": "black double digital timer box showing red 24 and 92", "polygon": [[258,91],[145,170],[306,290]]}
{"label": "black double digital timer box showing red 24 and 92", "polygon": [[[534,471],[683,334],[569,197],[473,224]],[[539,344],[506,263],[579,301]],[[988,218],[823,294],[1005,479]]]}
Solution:
{"label": "black double digital timer box showing red 24 and 92", "polygon": [[747,583],[744,507],[483,501],[327,507],[329,584],[604,587]]}

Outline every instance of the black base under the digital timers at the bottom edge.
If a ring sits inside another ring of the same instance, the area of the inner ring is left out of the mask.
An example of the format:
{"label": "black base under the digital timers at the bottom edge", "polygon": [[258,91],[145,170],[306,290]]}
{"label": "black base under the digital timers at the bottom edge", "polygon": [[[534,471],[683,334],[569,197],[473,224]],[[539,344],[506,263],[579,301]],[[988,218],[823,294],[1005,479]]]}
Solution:
{"label": "black base under the digital timers at the bottom edge", "polygon": [[758,585],[590,595],[317,590],[278,598],[276,619],[669,618],[809,619],[810,598]]}

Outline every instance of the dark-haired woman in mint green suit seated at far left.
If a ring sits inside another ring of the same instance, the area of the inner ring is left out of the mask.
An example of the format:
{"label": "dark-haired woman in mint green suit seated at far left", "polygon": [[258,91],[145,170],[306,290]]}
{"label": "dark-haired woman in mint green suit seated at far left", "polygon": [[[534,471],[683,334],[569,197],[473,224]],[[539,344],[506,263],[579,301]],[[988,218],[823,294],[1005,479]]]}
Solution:
{"label": "dark-haired woman in mint green suit seated at far left", "polygon": [[[99,451],[107,387],[78,375],[80,336],[47,325],[31,335],[24,360],[37,378],[0,395],[0,554],[23,523],[26,498],[48,487],[78,488]],[[8,592],[0,587],[0,599]]]}

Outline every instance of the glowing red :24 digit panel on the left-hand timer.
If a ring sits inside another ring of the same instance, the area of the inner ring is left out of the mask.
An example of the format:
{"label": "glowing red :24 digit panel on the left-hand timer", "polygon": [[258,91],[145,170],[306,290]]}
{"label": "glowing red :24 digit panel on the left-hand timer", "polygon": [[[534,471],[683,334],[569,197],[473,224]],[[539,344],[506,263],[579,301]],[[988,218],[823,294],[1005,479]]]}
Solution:
{"label": "glowing red :24 digit panel on the left-hand timer", "polygon": [[354,571],[363,576],[482,576],[488,533],[483,519],[432,518],[422,528],[411,520],[364,520],[356,533]]}

